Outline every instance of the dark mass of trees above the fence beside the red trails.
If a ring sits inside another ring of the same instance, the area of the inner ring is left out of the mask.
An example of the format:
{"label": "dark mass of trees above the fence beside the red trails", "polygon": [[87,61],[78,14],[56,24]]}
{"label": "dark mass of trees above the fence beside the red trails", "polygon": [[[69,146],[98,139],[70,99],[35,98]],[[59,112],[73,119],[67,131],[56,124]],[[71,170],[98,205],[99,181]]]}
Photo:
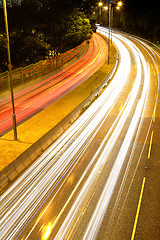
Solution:
{"label": "dark mass of trees above the fence beside the red trails", "polygon": [[[94,28],[89,0],[12,0],[8,6],[11,59],[14,67],[55,55],[89,39]],[[92,9],[93,9],[92,7]],[[85,15],[85,13],[87,13]],[[90,20],[91,19],[91,24]],[[0,66],[6,70],[6,39],[0,7]]]}

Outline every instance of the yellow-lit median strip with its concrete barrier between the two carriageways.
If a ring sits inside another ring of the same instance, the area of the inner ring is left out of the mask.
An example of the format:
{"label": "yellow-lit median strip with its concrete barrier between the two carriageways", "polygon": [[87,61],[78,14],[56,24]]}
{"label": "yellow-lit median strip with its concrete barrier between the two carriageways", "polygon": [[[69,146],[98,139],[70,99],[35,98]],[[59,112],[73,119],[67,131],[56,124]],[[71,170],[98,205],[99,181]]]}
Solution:
{"label": "yellow-lit median strip with its concrete barrier between the two carriageways", "polygon": [[13,141],[12,131],[1,137],[1,191],[35,161],[95,100],[109,84],[117,64],[117,52],[111,45],[110,65],[106,57],[105,63],[86,81],[18,126],[18,141]]}

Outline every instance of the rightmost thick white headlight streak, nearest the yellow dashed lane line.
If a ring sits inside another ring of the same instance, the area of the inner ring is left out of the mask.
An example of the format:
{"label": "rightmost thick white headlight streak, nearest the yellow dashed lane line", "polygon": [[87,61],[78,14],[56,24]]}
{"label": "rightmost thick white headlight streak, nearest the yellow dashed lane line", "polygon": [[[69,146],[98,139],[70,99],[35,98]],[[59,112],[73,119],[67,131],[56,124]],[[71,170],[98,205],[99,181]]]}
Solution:
{"label": "rightmost thick white headlight streak, nearest the yellow dashed lane line", "polygon": [[131,140],[134,136],[135,130],[137,128],[137,124],[139,123],[139,119],[141,117],[141,113],[143,111],[144,103],[146,100],[146,96],[148,94],[149,90],[149,79],[150,79],[150,74],[149,70],[147,69],[146,63],[144,61],[144,58],[141,59],[143,60],[143,67],[144,67],[144,73],[145,73],[145,79],[144,79],[144,87],[142,91],[142,95],[140,100],[138,101],[136,111],[134,113],[134,116],[132,118],[132,121],[130,123],[129,129],[127,131],[127,134],[125,136],[125,139],[123,141],[123,144],[121,146],[121,149],[118,153],[118,156],[115,160],[114,166],[112,168],[112,171],[110,173],[109,179],[107,180],[107,183],[105,185],[105,188],[101,194],[100,200],[97,204],[97,207],[94,211],[94,214],[92,215],[92,218],[90,220],[89,226],[86,230],[86,233],[84,235],[83,239],[95,239],[96,235],[98,233],[99,227],[101,225],[101,222],[103,220],[104,214],[107,210],[110,198],[112,196],[114,187],[116,185],[116,181],[118,179],[121,167],[123,165],[125,156],[127,154],[127,151],[129,149]]}

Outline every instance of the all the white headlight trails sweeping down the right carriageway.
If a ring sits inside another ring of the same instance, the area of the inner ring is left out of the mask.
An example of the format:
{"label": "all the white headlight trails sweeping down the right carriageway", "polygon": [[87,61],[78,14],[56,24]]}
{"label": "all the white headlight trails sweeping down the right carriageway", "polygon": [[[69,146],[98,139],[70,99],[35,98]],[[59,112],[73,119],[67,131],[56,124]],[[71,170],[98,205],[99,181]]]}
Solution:
{"label": "all the white headlight trails sweeping down the right carriageway", "polygon": [[[99,31],[104,35],[108,34],[105,28],[99,28]],[[24,235],[25,239],[32,239],[32,233],[45,215],[45,212],[49,209],[58,193],[62,191],[67,178],[78,167],[83,153],[90,147],[99,130],[103,128],[103,124],[125,91],[130,79],[134,59],[136,71],[134,79],[130,83],[130,91],[128,91],[124,103],[119,105],[121,107],[118,108],[118,114],[110,129],[95,150],[94,156],[88,162],[57,217],[54,218],[54,221],[50,220],[48,224],[43,223],[39,229],[39,232],[42,231],[42,236],[52,239],[53,231],[60,221],[63,212],[70,202],[73,201],[66,218],[63,219],[54,236],[54,239],[73,239],[75,229],[81,223],[83,214],[85,214],[90,203],[97,179],[107,162],[112,159],[113,165],[109,176],[103,185],[92,213],[90,213],[88,224],[86,224],[85,230],[81,235],[83,239],[87,240],[96,238],[127,153],[131,149],[131,156],[128,160],[129,166],[133,152],[136,151],[134,141],[140,134],[150,89],[150,65],[134,41],[121,36],[121,34],[114,33],[113,42],[118,49],[120,60],[117,72],[108,87],[84,114],[2,194],[1,236],[3,239],[21,238],[27,226],[44,207],[42,213],[36,218],[36,222],[32,224],[32,227],[29,227],[29,231]],[[145,45],[143,46],[146,49]],[[154,53],[150,50],[150,53],[147,54],[150,54],[150,58],[155,65],[154,67],[157,69],[156,60],[152,58]],[[153,106],[153,117],[155,104]],[[128,128],[123,136],[123,129],[127,121],[129,121]],[[121,135],[123,140],[113,159],[112,151]],[[74,199],[76,192],[77,195]],[[47,200],[49,200],[49,203],[46,204]]]}

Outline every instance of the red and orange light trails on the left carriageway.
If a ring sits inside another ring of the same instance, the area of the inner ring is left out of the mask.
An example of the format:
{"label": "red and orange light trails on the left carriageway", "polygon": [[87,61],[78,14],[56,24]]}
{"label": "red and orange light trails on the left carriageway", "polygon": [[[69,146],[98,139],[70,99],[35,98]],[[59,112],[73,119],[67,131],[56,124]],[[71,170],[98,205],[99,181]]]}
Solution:
{"label": "red and orange light trails on the left carriageway", "polygon": [[[31,87],[31,91],[29,91],[28,89],[27,91],[22,91],[24,93],[24,96],[23,94],[20,94],[21,97],[18,97],[18,99],[16,99],[15,107],[17,112],[17,122],[24,120],[31,114],[35,114],[43,107],[46,107],[52,101],[62,96],[62,94],[76,87],[82,82],[82,80],[90,76],[91,73],[95,72],[98,69],[98,66],[100,66],[106,58],[106,42],[105,40],[100,41],[99,37],[97,37],[96,35],[94,39],[95,45],[99,45],[99,48],[96,48],[95,52],[89,51],[89,54],[87,54],[87,58],[84,55],[82,59],[78,61],[78,64],[73,64],[73,66],[71,67],[71,71],[69,67],[69,69],[67,68],[67,70],[63,72],[62,75],[56,74],[56,78],[50,77],[49,79],[45,80],[44,84],[38,84],[38,89],[36,88],[36,84],[34,86],[35,88]],[[91,47],[89,47],[89,49],[90,48]],[[101,61],[99,61],[100,56]],[[82,68],[84,70],[83,73],[81,70]],[[70,81],[68,81],[68,79],[70,79]],[[9,108],[7,110],[8,107],[6,105],[4,108],[6,108],[6,110],[0,113],[1,132],[4,132],[9,127],[11,127],[12,123],[10,118],[11,109]]]}

